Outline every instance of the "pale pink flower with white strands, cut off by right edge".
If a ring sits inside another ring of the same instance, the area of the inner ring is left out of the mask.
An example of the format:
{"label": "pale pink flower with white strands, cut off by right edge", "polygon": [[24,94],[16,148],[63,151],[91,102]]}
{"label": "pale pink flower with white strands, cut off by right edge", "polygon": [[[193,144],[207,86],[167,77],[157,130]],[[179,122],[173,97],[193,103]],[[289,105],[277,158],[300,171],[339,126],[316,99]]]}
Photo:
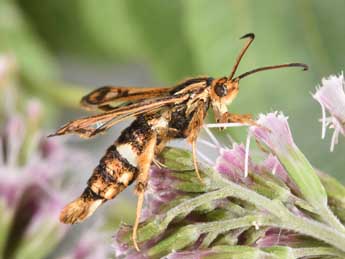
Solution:
{"label": "pale pink flower with white strands, cut off by right edge", "polygon": [[[331,75],[322,79],[322,84],[316,89],[313,98],[321,105],[322,110],[322,139],[325,138],[326,128],[333,128],[331,152],[338,143],[339,133],[345,136],[345,81],[344,75]],[[326,110],[330,114],[326,117]]]}

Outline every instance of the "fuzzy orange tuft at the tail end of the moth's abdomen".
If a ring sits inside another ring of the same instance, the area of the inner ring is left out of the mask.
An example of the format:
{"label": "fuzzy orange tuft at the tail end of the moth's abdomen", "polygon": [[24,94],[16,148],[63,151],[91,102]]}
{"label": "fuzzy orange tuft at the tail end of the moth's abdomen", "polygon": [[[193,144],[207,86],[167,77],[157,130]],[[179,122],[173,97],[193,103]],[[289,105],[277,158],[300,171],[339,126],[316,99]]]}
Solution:
{"label": "fuzzy orange tuft at the tail end of the moth's abdomen", "polygon": [[60,213],[60,221],[65,224],[75,224],[92,215],[92,213],[103,203],[102,199],[91,200],[78,198],[67,204]]}

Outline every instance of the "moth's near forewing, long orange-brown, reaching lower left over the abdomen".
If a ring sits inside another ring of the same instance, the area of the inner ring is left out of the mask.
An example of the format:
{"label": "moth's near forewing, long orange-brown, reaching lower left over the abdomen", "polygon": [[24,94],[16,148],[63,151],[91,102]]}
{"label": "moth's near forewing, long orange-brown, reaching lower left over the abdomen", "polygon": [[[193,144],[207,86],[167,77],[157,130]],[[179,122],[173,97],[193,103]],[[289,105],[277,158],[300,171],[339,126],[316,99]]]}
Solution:
{"label": "moth's near forewing, long orange-brown, reaching lower left over the abdomen", "polygon": [[122,120],[147,112],[158,111],[168,105],[181,103],[188,98],[189,96],[185,94],[142,100],[102,114],[71,121],[50,136],[75,133],[81,137],[90,138],[106,131]]}

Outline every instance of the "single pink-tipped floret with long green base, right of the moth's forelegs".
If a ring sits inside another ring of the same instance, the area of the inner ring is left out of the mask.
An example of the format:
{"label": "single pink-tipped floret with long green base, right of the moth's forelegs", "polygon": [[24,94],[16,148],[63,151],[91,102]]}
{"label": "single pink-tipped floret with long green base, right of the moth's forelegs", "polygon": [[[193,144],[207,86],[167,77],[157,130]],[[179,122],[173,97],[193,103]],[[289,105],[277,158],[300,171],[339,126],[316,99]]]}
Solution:
{"label": "single pink-tipped floret with long green base, right of the moth's forelegs", "polygon": [[260,126],[252,126],[250,133],[279,159],[303,198],[316,206],[327,206],[326,191],[314,168],[294,143],[287,119],[277,112],[260,115],[257,121]]}

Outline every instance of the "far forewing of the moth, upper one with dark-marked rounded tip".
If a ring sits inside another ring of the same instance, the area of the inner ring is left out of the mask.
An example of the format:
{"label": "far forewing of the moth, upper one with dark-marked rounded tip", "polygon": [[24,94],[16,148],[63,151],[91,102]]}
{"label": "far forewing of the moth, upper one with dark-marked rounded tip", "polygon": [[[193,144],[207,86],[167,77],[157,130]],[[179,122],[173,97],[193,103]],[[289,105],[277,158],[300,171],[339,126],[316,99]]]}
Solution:
{"label": "far forewing of the moth, upper one with dark-marked rounded tip", "polygon": [[81,105],[86,109],[110,111],[115,108],[110,103],[132,102],[161,97],[167,95],[169,90],[169,88],[165,87],[137,88],[103,86],[84,96],[81,99]]}

